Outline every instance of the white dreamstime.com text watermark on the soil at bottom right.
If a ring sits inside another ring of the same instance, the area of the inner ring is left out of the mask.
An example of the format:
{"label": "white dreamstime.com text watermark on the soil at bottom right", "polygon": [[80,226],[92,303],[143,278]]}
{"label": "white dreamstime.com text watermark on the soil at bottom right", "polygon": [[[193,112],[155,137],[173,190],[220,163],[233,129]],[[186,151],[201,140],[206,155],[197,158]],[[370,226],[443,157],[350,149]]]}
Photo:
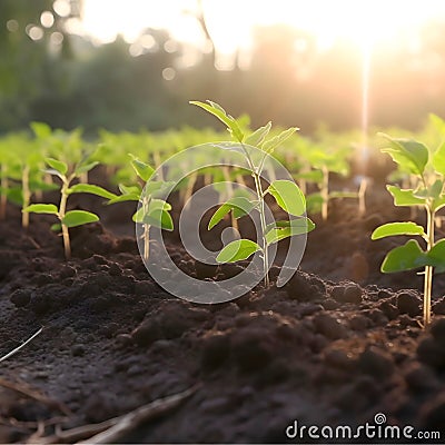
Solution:
{"label": "white dreamstime.com text watermark on the soil at bottom right", "polygon": [[377,413],[374,416],[374,423],[366,422],[355,427],[299,425],[298,421],[294,421],[286,428],[286,437],[296,443],[306,439],[439,441],[441,432],[416,431],[411,425],[388,425],[385,414]]}

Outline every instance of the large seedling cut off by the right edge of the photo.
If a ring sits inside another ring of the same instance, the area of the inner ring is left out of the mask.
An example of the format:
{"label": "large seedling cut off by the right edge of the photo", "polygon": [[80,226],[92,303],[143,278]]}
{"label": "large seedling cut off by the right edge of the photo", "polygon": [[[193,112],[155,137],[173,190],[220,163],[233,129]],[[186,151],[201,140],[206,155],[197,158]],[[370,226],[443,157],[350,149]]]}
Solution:
{"label": "large seedling cut off by the right edge of the photo", "polygon": [[426,211],[426,228],[413,222],[389,222],[377,227],[372,239],[388,236],[407,235],[421,237],[425,248],[417,240],[409,239],[386,255],[380,270],[384,274],[424,268],[424,326],[431,322],[431,297],[433,269],[438,274],[445,271],[445,239],[435,241],[435,215],[445,207],[445,142],[433,150],[413,139],[393,139],[384,136],[389,146],[387,152],[404,170],[418,179],[416,189],[402,189],[387,186],[395,206],[423,207]]}

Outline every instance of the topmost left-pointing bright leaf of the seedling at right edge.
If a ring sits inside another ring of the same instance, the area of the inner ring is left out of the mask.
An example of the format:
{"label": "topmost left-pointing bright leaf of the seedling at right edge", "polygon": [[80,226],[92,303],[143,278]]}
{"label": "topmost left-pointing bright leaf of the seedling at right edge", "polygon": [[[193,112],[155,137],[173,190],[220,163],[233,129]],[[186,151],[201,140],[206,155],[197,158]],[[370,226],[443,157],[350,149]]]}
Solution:
{"label": "topmost left-pointing bright leaf of the seedling at right edge", "polygon": [[428,162],[428,149],[422,144],[413,139],[394,139],[387,135],[379,134],[385,137],[389,147],[382,151],[387,152],[395,162],[407,168],[411,172],[422,176]]}

